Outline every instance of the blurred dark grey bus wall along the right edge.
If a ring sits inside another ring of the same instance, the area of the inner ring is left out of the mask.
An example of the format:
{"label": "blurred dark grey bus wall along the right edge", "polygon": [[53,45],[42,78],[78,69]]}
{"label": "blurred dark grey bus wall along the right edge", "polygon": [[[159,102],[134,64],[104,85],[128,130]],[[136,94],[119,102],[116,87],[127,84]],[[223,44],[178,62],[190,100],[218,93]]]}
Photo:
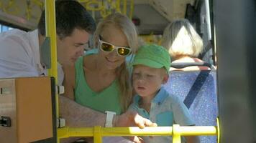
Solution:
{"label": "blurred dark grey bus wall along the right edge", "polygon": [[256,142],[256,1],[214,1],[221,142]]}

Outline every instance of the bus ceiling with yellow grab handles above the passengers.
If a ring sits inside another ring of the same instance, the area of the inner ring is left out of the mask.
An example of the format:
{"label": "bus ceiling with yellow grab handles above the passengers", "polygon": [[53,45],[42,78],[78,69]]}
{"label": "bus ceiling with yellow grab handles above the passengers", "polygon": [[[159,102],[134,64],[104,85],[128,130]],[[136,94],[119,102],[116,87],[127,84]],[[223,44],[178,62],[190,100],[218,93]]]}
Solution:
{"label": "bus ceiling with yellow grab handles above the passengers", "polygon": [[[78,1],[96,21],[114,11],[127,14],[134,20],[140,34],[162,34],[170,21],[186,16],[188,5],[196,7],[198,4],[198,0]],[[13,27],[35,29],[42,9],[44,0],[1,0],[0,21]]]}

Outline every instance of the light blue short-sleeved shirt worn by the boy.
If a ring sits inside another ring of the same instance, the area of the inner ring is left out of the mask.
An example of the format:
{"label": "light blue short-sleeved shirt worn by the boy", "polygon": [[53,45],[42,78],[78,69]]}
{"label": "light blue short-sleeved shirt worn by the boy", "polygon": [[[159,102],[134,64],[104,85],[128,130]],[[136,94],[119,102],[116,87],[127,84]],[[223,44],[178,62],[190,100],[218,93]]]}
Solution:
{"label": "light blue short-sleeved shirt worn by the boy", "polygon": [[[180,126],[193,125],[191,115],[183,102],[173,95],[170,95],[163,87],[157,92],[155,98],[152,99],[150,113],[145,109],[140,108],[139,101],[141,97],[136,95],[133,103],[129,108],[135,109],[142,117],[156,122],[158,127],[170,127],[173,124],[180,124]],[[171,142],[171,137],[142,137],[145,142]]]}

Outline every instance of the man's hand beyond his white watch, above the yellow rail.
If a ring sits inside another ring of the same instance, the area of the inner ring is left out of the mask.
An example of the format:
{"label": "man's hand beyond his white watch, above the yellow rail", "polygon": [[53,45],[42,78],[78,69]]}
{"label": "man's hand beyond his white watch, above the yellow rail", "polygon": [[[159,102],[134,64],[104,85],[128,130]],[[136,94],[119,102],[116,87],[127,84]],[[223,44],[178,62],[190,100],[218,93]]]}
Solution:
{"label": "man's hand beyond his white watch, above the yellow rail", "polygon": [[152,123],[149,119],[141,117],[137,112],[128,110],[124,114],[115,116],[114,127],[157,127],[157,124]]}

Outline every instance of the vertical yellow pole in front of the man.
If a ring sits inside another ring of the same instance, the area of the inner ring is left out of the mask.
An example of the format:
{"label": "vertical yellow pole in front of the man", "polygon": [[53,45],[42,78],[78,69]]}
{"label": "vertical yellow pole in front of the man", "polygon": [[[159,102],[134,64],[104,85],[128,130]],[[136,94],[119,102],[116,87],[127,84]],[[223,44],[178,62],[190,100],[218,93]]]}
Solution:
{"label": "vertical yellow pole in front of the man", "polygon": [[[48,69],[48,76],[55,78],[55,84],[58,84],[58,64],[57,64],[57,44],[56,44],[56,22],[55,22],[55,1],[45,0],[45,36],[50,37],[51,49],[51,69]],[[56,117],[59,117],[59,101],[58,94],[55,96],[56,100]],[[55,122],[55,121],[53,121]],[[58,137],[58,134],[57,134]],[[57,139],[57,142],[60,142]]]}

